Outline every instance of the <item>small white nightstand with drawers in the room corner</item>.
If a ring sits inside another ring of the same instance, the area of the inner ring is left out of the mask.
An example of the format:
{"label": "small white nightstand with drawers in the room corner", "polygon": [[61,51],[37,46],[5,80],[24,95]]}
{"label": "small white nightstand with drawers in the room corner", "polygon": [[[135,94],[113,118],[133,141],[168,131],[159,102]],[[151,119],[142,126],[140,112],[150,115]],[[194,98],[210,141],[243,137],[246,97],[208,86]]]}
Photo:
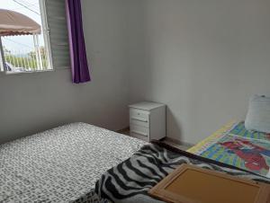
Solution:
{"label": "small white nightstand with drawers in the room corner", "polygon": [[130,105],[130,136],[147,142],[166,137],[166,105],[156,102]]}

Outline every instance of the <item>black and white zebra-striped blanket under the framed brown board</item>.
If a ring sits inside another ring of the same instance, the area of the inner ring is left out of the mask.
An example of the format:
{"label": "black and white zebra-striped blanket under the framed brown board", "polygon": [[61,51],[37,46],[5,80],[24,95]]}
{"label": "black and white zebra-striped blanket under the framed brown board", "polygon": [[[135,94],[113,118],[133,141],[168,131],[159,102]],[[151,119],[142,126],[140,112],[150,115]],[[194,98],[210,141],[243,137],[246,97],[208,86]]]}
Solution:
{"label": "black and white zebra-striped blanket under the framed brown board", "polygon": [[101,199],[109,199],[115,203],[161,203],[162,201],[149,197],[148,190],[183,163],[270,183],[269,179],[257,174],[154,142],[143,146],[128,160],[105,172],[96,182],[95,192]]}

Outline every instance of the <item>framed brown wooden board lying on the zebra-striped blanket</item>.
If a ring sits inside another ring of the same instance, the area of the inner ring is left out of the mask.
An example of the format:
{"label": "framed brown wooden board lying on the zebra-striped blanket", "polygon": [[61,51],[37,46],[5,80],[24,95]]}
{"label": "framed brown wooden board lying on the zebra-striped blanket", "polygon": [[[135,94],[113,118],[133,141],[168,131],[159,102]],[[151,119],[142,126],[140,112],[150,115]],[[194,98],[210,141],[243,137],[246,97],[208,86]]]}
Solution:
{"label": "framed brown wooden board lying on the zebra-striped blanket", "polygon": [[270,186],[183,164],[148,193],[171,203],[270,203]]}

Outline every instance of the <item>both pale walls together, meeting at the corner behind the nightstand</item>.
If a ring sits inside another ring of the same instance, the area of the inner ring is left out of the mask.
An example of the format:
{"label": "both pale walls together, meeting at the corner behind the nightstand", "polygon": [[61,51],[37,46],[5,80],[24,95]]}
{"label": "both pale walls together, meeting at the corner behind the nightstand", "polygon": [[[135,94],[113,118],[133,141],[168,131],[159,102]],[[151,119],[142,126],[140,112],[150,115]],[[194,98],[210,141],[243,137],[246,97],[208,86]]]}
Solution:
{"label": "both pale walls together, meeting at the corner behind the nightstand", "polygon": [[167,104],[167,136],[196,143],[270,94],[268,0],[83,0],[93,81],[69,70],[0,77],[0,142],[84,121],[128,126],[127,105]]}

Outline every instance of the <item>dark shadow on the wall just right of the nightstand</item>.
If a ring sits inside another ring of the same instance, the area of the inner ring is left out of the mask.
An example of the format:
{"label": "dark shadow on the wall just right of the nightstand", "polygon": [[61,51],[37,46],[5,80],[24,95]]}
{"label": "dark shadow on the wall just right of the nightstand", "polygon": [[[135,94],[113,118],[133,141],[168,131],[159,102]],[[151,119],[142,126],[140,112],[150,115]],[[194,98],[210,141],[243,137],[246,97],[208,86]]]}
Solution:
{"label": "dark shadow on the wall just right of the nightstand", "polygon": [[173,111],[168,106],[166,106],[166,137],[174,137],[174,139],[177,137],[178,140],[182,140],[180,122],[177,122]]}

